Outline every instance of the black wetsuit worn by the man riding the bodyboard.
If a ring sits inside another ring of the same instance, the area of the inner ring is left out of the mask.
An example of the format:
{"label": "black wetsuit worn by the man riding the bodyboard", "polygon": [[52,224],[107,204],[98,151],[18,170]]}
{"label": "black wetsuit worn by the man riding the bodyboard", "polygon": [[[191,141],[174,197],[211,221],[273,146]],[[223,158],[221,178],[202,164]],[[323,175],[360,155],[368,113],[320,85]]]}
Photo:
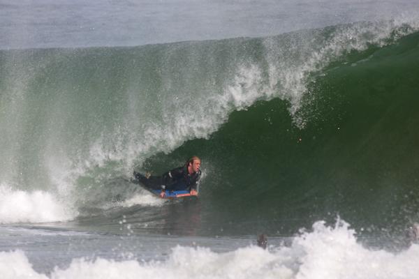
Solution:
{"label": "black wetsuit worn by the man riding the bodyboard", "polygon": [[140,181],[147,188],[154,190],[165,189],[169,191],[188,190],[189,192],[192,189],[197,190],[196,188],[198,186],[200,174],[200,170],[193,174],[189,174],[188,168],[184,166],[172,169],[162,176],[149,176],[147,179],[144,175],[134,171],[135,179]]}

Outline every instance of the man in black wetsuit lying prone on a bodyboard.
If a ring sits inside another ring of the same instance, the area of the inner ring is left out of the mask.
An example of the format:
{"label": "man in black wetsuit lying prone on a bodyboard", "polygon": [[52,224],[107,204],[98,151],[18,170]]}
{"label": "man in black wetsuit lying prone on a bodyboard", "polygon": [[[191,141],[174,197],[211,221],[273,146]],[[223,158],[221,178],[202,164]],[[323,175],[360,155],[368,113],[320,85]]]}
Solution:
{"label": "man in black wetsuit lying prone on a bodyboard", "polygon": [[161,190],[161,197],[165,197],[166,190],[188,190],[191,195],[198,195],[198,181],[200,179],[200,158],[193,156],[186,164],[170,170],[161,176],[142,175],[134,171],[134,177],[140,183],[152,190]]}

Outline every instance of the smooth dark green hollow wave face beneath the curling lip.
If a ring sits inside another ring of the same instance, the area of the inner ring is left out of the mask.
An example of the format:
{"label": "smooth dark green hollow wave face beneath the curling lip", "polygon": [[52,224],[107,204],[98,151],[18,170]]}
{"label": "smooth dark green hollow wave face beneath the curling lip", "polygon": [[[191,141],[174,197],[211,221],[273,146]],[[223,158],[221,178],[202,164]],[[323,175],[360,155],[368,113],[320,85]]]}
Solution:
{"label": "smooth dark green hollow wave face beneath the curling lip", "polygon": [[292,233],[337,216],[399,232],[417,219],[419,201],[418,43],[415,33],[351,52],[311,75],[297,112],[304,128],[288,102],[260,101],[230,114],[209,140],[149,162],[200,154],[209,223],[236,232]]}

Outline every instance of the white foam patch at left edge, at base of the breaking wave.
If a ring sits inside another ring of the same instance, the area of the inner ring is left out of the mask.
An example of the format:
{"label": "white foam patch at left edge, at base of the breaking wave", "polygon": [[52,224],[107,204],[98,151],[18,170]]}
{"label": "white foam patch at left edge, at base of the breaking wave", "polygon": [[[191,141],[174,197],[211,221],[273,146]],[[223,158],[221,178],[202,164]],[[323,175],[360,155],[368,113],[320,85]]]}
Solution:
{"label": "white foam patch at left edge, at base of the breaking wave", "polygon": [[50,193],[26,192],[0,185],[0,224],[70,220],[73,212]]}

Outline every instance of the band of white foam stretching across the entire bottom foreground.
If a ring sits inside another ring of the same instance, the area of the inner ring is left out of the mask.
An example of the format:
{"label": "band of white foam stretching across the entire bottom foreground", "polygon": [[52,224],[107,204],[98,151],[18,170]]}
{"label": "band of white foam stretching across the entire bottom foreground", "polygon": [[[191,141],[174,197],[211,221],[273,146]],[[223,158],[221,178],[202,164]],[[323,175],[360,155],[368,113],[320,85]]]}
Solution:
{"label": "band of white foam stretching across the entire bottom foreground", "polygon": [[[249,246],[217,253],[209,248],[177,246],[163,262],[79,258],[66,269],[56,267],[50,278],[418,278],[418,245],[398,254],[369,250],[354,234],[344,222],[338,221],[335,227],[318,222],[312,232],[295,237],[290,247],[263,250]],[[32,269],[21,251],[0,253],[0,273],[5,279],[45,278]]]}

